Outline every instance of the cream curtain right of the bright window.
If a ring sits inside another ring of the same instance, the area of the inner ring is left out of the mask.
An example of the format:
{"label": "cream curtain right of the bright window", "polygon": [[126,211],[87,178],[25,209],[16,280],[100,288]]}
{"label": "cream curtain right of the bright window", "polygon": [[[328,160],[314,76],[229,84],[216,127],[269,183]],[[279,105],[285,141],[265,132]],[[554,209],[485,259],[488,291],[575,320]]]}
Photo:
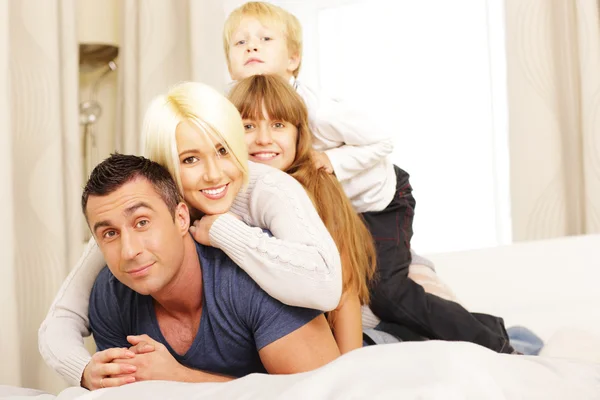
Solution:
{"label": "cream curtain right of the bright window", "polygon": [[506,0],[513,237],[600,232],[596,0]]}

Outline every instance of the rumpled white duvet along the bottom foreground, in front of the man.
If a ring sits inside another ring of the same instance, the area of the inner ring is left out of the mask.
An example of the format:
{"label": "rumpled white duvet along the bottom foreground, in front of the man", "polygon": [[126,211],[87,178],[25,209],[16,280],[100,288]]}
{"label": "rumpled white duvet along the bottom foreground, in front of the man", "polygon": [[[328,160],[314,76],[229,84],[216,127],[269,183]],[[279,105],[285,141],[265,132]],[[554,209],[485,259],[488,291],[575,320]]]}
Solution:
{"label": "rumpled white duvet along the bottom foreground, in front of the man", "polygon": [[303,374],[252,374],[221,384],[138,382],[95,392],[70,388],[56,398],[35,397],[591,400],[600,399],[600,364],[504,355],[470,343],[430,341],[363,348]]}

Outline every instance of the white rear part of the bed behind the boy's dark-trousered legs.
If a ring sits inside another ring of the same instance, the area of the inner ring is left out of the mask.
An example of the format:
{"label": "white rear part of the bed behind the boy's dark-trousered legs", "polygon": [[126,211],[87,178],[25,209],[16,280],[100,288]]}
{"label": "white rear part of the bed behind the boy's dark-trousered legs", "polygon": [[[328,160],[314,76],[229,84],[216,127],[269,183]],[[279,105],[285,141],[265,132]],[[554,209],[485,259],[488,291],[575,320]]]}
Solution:
{"label": "white rear part of the bed behind the boy's dark-trousered legs", "polygon": [[600,235],[428,257],[467,309],[526,326],[542,354],[600,362]]}

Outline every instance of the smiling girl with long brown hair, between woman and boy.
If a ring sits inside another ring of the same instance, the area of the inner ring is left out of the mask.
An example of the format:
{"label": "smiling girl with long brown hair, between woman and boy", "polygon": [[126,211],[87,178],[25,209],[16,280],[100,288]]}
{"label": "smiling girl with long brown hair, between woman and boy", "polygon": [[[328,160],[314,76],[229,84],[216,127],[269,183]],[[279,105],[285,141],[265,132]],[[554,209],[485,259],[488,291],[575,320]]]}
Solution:
{"label": "smiling girl with long brown hair, between woman and boy", "polygon": [[344,283],[342,301],[328,319],[342,354],[361,347],[361,305],[369,303],[375,247],[338,180],[314,165],[306,107],[290,85],[274,76],[240,81],[229,99],[242,115],[250,159],[296,178],[333,236]]}

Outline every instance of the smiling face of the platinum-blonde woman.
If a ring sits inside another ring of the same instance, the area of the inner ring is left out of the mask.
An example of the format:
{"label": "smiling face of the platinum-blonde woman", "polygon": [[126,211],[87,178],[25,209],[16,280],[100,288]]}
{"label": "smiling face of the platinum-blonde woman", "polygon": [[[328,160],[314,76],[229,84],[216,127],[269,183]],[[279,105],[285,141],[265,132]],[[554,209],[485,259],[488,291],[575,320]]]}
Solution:
{"label": "smiling face of the platinum-blonde woman", "polygon": [[179,123],[175,135],[185,201],[204,214],[229,211],[243,181],[232,156],[190,122]]}

